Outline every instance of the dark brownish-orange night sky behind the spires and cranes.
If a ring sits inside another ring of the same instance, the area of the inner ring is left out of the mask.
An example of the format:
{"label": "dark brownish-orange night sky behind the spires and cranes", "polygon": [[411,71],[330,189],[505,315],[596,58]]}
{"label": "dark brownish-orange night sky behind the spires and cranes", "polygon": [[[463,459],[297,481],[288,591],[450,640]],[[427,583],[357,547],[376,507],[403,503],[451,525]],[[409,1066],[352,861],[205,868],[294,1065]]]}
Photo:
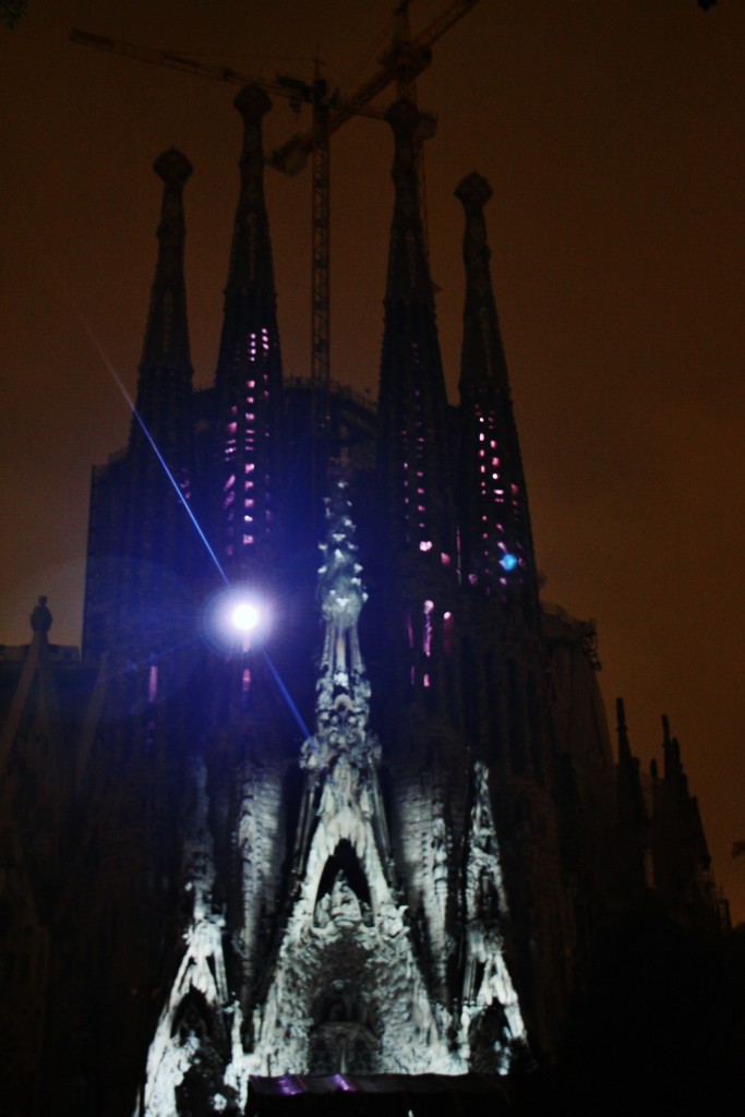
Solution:
{"label": "dark brownish-orange night sky behind the spires and cranes", "polygon": [[[342,90],[374,67],[391,0],[29,0],[0,28],[0,640],[26,642],[46,592],[77,643],[92,462],[128,414],[93,334],[133,391],[155,259],[154,157],[175,144],[199,384],[217,356],[237,198],[235,89],[68,41],[73,26]],[[414,31],[447,0],[417,0]],[[745,4],[481,0],[420,80],[433,277],[456,398],[461,216],[476,169],[547,600],[596,618],[609,707],[627,700],[644,767],[670,716],[715,871],[745,918],[739,364]],[[303,118],[305,126],[307,121]],[[278,103],[267,146],[296,128]],[[332,362],[376,391],[391,140],[333,141]],[[307,374],[309,181],[268,181],[285,370]]]}

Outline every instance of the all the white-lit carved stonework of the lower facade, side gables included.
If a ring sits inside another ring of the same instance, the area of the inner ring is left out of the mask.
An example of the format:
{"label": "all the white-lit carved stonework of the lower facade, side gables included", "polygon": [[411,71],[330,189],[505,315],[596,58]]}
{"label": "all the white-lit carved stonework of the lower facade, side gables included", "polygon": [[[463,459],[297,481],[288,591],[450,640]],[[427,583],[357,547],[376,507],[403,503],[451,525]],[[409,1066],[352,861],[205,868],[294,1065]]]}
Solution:
{"label": "all the white-lit carved stonework of the lower facade, side gables included", "polygon": [[[268,953],[259,908],[276,910],[278,903],[281,793],[271,768],[247,761],[236,773],[242,928],[231,939],[242,989],[230,990],[226,926],[212,895],[207,779],[199,768],[187,843],[193,922],[151,1046],[149,1117],[182,1111],[189,1089],[201,1089],[202,1096],[207,1089],[213,1111],[240,1113],[250,1075],[461,1075],[472,1069],[475,1052],[479,1063],[486,1060],[478,1069],[505,1072],[516,1048],[526,1043],[504,957],[507,901],[483,764],[475,767],[472,804],[464,820],[467,857],[455,901],[465,925],[460,943],[448,922],[453,839],[443,799],[428,794],[424,780],[409,804],[411,830],[419,819],[422,853],[413,891],[426,899],[430,943],[440,948],[429,973],[416,946],[403,899],[407,881],[397,877],[379,784],[380,744],[369,727],[370,685],[357,638],[366,594],[344,486],[336,488],[327,515],[319,570],[325,640],[316,732],[300,756],[305,787],[295,885],[284,915],[279,908],[275,919],[279,934]],[[414,789],[407,790],[411,795]],[[437,991],[445,987],[446,962],[456,952],[464,962],[462,989],[446,1003]]]}

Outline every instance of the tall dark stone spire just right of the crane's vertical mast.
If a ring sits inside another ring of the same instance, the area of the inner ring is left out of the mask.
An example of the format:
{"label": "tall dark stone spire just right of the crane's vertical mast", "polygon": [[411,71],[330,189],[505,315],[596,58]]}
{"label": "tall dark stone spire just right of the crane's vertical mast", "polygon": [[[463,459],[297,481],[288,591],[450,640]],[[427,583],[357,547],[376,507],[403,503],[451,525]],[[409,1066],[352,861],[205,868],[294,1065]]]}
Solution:
{"label": "tall dark stone spire just right of the crane's vertical mast", "polygon": [[[443,706],[450,707],[448,723],[455,708],[453,672],[446,663],[456,592],[448,402],[417,190],[414,135],[420,116],[402,99],[386,118],[395,141],[395,200],[379,405],[380,551],[386,557],[376,584],[384,592],[381,608],[397,618],[401,640],[383,668],[388,678],[381,689],[393,688],[407,703],[426,700],[439,736]],[[403,732],[401,726],[386,728],[388,734],[398,732]]]}

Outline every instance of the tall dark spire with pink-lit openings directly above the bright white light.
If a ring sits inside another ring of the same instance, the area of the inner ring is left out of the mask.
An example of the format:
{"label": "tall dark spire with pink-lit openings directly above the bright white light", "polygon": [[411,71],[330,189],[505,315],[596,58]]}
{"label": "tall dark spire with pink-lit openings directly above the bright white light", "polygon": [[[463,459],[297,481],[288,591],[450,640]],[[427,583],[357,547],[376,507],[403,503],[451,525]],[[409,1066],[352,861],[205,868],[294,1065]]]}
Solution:
{"label": "tall dark spire with pink-lit openings directly above the bright white light", "polygon": [[241,89],[240,197],[216,375],[221,475],[218,548],[228,570],[248,573],[273,533],[281,421],[281,360],[269,222],[264,200],[261,120],[271,102]]}

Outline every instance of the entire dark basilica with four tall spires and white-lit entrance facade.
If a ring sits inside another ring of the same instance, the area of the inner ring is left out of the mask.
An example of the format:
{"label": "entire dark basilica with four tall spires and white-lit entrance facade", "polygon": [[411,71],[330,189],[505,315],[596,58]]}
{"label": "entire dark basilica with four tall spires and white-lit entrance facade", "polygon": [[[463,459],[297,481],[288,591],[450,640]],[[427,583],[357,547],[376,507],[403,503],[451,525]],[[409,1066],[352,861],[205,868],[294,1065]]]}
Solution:
{"label": "entire dark basilica with four tall spires and white-lit entrance facade", "polygon": [[696,800],[667,723],[643,775],[619,703],[613,755],[593,626],[539,602],[488,184],[456,191],[458,407],[404,101],[378,408],[284,383],[269,104],[236,104],[214,384],[192,389],[172,150],[136,417],[94,470],[82,657],[49,642],[44,599],[30,646],[2,649],[4,1111],[238,1115],[307,1092],[327,1113],[332,1090],[535,1111],[603,1066],[609,1004],[643,1034],[644,964],[619,943],[722,935]]}

